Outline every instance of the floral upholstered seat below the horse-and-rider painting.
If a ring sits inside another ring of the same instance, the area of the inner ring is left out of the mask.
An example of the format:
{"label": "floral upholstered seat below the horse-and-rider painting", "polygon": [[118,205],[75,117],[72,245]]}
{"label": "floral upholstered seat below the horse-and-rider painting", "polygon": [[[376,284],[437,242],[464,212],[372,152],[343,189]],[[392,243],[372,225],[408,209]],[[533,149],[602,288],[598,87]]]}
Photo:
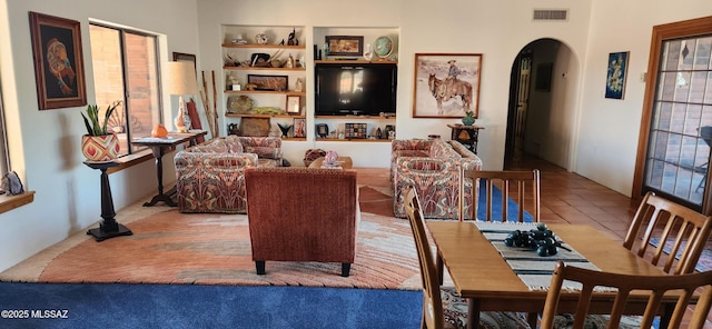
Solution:
{"label": "floral upholstered seat below the horse-and-rider painting", "polygon": [[[415,187],[426,218],[457,219],[462,170],[482,169],[482,160],[457,141],[393,140],[393,212],[405,218],[405,189]],[[465,181],[465,211],[471,213],[472,180]]]}

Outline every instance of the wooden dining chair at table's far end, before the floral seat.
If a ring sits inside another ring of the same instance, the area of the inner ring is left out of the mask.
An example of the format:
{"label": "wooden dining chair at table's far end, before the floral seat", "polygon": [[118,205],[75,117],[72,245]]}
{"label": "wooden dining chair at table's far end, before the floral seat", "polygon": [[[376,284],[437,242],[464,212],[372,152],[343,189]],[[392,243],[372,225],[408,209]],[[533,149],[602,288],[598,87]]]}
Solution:
{"label": "wooden dining chair at table's far end, before the floral seat", "polygon": [[[469,215],[468,218],[485,220],[485,221],[506,221],[516,216],[516,220],[520,222],[526,221],[525,211],[532,216],[534,222],[540,221],[541,206],[541,178],[538,169],[534,170],[503,170],[503,171],[483,171],[483,170],[465,170],[463,171],[463,179],[472,179],[473,191],[472,196],[475,200],[472,202],[472,207],[466,207],[465,200],[463,200],[465,193],[459,193],[459,220],[465,219],[465,215]],[[481,195],[479,185],[485,185],[485,195]],[[462,185],[464,187],[464,183]],[[502,209],[502,216],[493,218],[493,209],[495,192],[501,193],[498,205]],[[485,217],[477,217],[478,200],[479,198],[486,198],[485,202]],[[514,201],[517,207],[516,210],[510,208],[510,200]],[[514,213],[516,212],[516,213]]]}

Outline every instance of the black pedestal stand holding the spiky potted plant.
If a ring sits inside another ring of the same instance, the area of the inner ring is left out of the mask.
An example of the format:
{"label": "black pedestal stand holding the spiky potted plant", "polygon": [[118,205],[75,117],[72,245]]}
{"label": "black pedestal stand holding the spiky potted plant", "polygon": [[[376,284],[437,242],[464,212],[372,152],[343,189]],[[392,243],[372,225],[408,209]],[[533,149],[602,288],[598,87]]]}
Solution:
{"label": "black pedestal stand holding the spiky potted plant", "polygon": [[107,169],[111,167],[117,167],[119,166],[119,163],[113,161],[108,161],[108,162],[86,161],[85,164],[87,164],[91,169],[101,170],[101,219],[102,220],[99,223],[98,229],[90,229],[89,231],[87,231],[87,235],[93,236],[95,239],[97,239],[97,242],[101,242],[106,239],[110,239],[115,237],[134,235],[131,230],[118,223],[113,218],[116,216],[116,211],[113,210],[113,198],[111,197],[111,187],[109,186],[109,175],[107,173]]}

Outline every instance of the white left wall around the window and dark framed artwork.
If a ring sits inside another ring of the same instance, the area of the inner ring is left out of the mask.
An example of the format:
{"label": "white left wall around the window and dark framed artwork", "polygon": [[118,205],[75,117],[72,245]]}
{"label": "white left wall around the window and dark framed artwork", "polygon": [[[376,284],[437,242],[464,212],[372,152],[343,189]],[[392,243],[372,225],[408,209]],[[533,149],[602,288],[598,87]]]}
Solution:
{"label": "white left wall around the window and dark framed artwork", "polygon": [[[89,103],[96,102],[89,19],[164,34],[162,60],[172,60],[172,51],[198,53],[195,0],[0,0],[0,78],[11,166],[36,191],[33,203],[0,215],[0,271],[83,230],[101,212],[99,172],[82,163],[79,150],[85,108],[38,109],[29,11],[81,23]],[[166,173],[167,182],[171,175],[175,180],[172,172]],[[152,195],[154,161],[110,175],[110,182],[117,210]]]}

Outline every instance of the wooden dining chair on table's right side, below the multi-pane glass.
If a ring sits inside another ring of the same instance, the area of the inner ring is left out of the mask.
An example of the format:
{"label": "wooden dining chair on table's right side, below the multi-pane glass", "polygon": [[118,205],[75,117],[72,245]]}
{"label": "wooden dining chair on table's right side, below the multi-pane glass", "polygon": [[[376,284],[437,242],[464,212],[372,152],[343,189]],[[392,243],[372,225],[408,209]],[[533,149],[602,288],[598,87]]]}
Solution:
{"label": "wooden dining chair on table's right side, below the multi-pane glass", "polygon": [[[647,223],[643,230],[643,225]],[[694,271],[712,232],[712,217],[653,192],[643,198],[623,246],[673,275]]]}

